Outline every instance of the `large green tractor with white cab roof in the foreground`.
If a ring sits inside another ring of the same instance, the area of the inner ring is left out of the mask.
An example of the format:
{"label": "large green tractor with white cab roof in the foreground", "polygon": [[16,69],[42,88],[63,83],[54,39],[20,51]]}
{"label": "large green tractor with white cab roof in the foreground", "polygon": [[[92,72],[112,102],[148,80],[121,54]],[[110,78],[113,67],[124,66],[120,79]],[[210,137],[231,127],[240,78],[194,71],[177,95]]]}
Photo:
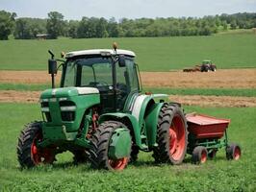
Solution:
{"label": "large green tractor with white cab roof in the foreground", "polygon": [[116,49],[65,54],[60,87],[55,88],[57,60],[48,60],[52,88],[40,95],[41,121],[20,133],[21,167],[53,163],[66,151],[93,168],[122,170],[140,151],[159,163],[182,163],[188,144],[181,106],[167,95],[141,93],[135,54]]}

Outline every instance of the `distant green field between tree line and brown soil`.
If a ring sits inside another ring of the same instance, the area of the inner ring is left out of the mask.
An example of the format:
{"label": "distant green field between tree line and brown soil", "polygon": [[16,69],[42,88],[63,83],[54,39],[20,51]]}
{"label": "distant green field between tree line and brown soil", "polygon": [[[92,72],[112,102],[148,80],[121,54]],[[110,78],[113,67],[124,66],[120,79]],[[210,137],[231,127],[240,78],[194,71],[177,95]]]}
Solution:
{"label": "distant green field between tree line and brown soil", "polygon": [[117,41],[122,49],[137,54],[142,71],[182,69],[209,59],[218,68],[256,67],[256,36],[176,36],[139,38],[91,38],[0,41],[0,70],[46,70],[48,49],[61,51],[111,48]]}

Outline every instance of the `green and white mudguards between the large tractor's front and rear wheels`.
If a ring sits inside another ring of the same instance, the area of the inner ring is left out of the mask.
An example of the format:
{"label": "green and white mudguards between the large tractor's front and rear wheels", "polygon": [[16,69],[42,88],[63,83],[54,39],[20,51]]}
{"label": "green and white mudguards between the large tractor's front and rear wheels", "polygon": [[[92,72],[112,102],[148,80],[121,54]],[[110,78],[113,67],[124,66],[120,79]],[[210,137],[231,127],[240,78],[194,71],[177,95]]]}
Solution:
{"label": "green and white mudguards between the large tractor's front and rear wheels", "polygon": [[[127,113],[114,112],[103,114],[99,118],[99,123],[107,120],[128,120],[132,126],[131,132],[134,133],[136,144],[143,150],[150,150],[156,146],[159,111],[164,101],[167,100],[166,98],[166,94],[139,95],[130,102]],[[143,135],[141,135],[141,130],[143,128],[146,141],[142,142],[141,136]]]}

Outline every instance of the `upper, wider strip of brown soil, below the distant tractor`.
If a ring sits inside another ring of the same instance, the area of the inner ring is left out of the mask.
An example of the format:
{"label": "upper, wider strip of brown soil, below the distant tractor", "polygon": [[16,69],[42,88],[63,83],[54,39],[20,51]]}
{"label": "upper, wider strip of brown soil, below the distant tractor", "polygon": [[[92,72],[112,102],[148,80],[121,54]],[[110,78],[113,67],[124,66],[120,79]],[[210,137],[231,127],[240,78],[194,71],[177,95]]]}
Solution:
{"label": "upper, wider strip of brown soil, below the distant tractor", "polygon": [[[61,73],[57,75],[60,81]],[[256,88],[256,69],[220,69],[217,72],[141,72],[143,86],[173,88]],[[46,71],[0,71],[0,83],[48,84]]]}

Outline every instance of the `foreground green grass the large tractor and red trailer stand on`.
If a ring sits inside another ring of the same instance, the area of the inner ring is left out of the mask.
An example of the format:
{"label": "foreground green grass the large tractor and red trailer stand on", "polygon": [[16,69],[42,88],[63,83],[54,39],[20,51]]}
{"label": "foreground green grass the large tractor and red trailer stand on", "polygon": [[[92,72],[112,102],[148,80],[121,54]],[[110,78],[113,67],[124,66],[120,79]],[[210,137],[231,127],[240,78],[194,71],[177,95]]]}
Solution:
{"label": "foreground green grass the large tractor and red trailer stand on", "polygon": [[[239,161],[227,161],[224,152],[204,165],[192,165],[188,156],[180,166],[156,165],[151,154],[122,172],[95,171],[90,164],[74,166],[72,156],[57,156],[52,166],[20,170],[16,160],[17,136],[23,125],[40,117],[38,105],[0,105],[0,191],[255,191],[256,108],[198,108],[231,118],[230,140],[241,144]],[[246,122],[246,123],[245,123]]]}

